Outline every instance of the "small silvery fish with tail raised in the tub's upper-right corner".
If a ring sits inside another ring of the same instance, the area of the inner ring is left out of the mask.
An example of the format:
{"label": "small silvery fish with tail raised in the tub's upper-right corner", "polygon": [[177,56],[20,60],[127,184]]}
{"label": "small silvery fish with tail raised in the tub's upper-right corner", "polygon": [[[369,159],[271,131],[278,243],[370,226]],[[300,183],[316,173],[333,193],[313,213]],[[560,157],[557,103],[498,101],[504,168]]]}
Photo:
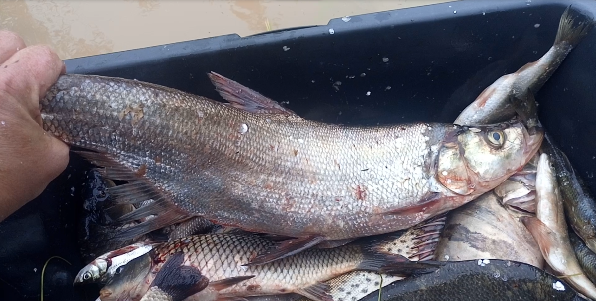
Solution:
{"label": "small silvery fish with tail raised in the tub's upper-right corner", "polygon": [[594,23],[591,19],[573,27],[571,6],[561,15],[552,47],[538,61],[529,62],[515,73],[506,74],[488,86],[455,120],[462,126],[493,124],[513,117],[514,109],[507,102],[512,95],[536,94],[569,52],[585,37]]}

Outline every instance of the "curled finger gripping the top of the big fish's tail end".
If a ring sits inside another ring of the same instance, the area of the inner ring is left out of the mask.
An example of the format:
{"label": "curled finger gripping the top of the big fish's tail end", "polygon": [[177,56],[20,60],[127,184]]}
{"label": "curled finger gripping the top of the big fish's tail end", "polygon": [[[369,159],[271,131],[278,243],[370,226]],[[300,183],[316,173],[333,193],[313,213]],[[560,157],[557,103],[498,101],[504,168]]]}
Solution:
{"label": "curled finger gripping the top of the big fish's tail end", "polygon": [[28,99],[27,108],[39,111],[39,99],[63,70],[64,62],[49,46],[29,46],[15,53],[0,69],[0,95]]}

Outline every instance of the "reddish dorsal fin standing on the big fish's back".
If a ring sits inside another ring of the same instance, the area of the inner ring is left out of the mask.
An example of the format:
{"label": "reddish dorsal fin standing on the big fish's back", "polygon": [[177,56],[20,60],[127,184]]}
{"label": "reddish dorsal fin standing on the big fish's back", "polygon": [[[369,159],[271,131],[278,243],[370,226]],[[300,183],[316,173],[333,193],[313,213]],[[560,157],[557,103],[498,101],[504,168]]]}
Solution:
{"label": "reddish dorsal fin standing on the big fish's back", "polygon": [[215,90],[232,106],[253,113],[296,115],[277,101],[215,72],[207,73]]}

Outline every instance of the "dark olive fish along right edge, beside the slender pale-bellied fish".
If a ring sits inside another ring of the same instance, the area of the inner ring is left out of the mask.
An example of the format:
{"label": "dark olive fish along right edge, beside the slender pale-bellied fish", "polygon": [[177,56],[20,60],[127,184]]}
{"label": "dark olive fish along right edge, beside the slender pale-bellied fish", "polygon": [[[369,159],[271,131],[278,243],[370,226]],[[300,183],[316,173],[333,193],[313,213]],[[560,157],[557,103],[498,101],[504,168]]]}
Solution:
{"label": "dark olive fish along right edge, beside the slender pale-bellied fish", "polygon": [[541,151],[547,153],[557,171],[557,183],[563,197],[565,215],[573,230],[596,253],[596,199],[569,159],[550,134],[545,136]]}

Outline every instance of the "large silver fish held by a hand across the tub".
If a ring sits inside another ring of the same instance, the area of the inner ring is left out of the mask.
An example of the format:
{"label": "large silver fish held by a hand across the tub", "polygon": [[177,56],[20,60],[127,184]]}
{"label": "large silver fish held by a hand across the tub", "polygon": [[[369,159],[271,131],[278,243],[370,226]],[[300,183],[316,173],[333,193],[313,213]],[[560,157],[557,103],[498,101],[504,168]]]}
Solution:
{"label": "large silver fish held by a hand across the tub", "polygon": [[542,140],[520,120],[347,127],[268,110],[82,75],[61,76],[41,102],[46,131],[129,181],[111,189],[120,203],[154,200],[120,221],[156,217],[120,237],[191,216],[305,246],[389,233],[493,189]]}

